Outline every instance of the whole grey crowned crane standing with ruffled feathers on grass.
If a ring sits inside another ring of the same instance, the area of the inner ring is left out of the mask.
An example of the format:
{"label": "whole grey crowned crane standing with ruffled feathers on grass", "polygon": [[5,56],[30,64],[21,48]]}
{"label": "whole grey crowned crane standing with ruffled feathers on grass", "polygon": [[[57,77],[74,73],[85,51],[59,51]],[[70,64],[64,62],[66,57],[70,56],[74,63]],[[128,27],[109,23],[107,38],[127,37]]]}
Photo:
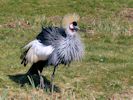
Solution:
{"label": "whole grey crowned crane standing with ruffled feathers on grass", "polygon": [[84,48],[77,33],[78,20],[77,14],[68,14],[62,19],[62,27],[42,28],[36,39],[24,47],[21,64],[32,64],[27,74],[38,74],[41,88],[44,88],[41,76],[44,67],[54,66],[51,76],[53,87],[55,70],[59,64],[69,65],[72,61],[82,59]]}

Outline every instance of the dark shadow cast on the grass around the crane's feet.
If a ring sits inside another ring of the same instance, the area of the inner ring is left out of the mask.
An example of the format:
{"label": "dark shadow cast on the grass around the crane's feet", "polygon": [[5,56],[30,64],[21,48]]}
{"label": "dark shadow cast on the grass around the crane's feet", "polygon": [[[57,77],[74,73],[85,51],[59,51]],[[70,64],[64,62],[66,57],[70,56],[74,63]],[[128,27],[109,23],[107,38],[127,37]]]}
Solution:
{"label": "dark shadow cast on the grass around the crane's feet", "polygon": [[[20,84],[22,87],[25,84],[29,84],[32,86],[27,74],[16,74],[16,75],[8,75],[8,76],[12,81]],[[31,75],[30,78],[33,80],[35,87],[39,87],[39,84],[40,84],[39,76]],[[43,76],[43,79],[44,79],[44,84],[45,84],[44,89],[46,89],[46,91],[48,91],[48,90],[51,91],[52,85],[51,85],[50,81],[45,76]],[[54,85],[54,91],[60,92],[60,88],[58,86]]]}

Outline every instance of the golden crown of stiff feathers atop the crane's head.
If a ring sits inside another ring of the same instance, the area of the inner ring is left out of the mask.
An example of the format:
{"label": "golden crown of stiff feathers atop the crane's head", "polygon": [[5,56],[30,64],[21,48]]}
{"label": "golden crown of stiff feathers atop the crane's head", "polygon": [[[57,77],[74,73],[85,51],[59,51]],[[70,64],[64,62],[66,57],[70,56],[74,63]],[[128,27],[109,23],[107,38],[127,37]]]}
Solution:
{"label": "golden crown of stiff feathers atop the crane's head", "polygon": [[62,27],[66,29],[70,25],[70,23],[74,21],[77,22],[79,18],[79,15],[77,15],[76,13],[65,15],[62,19]]}

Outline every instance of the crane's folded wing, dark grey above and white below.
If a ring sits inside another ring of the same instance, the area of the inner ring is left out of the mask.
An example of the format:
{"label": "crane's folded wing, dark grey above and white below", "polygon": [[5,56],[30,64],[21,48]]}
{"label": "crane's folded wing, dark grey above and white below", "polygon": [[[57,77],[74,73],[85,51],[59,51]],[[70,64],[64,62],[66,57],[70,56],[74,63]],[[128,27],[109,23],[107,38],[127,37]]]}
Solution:
{"label": "crane's folded wing, dark grey above and white below", "polygon": [[31,41],[24,47],[21,64],[36,63],[45,61],[55,49],[55,43],[65,37],[65,31],[62,28],[43,28],[36,40]]}

